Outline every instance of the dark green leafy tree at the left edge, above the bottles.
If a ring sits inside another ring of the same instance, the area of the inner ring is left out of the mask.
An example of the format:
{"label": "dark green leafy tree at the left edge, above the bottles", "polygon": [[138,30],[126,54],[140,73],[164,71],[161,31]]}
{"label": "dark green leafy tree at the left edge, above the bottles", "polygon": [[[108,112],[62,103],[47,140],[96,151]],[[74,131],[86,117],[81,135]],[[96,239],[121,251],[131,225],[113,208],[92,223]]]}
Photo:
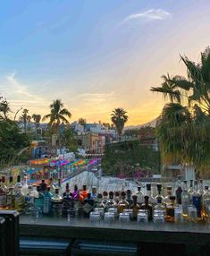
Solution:
{"label": "dark green leafy tree at the left edge, above the bottles", "polygon": [[29,147],[29,136],[21,133],[17,124],[9,119],[0,122],[0,164],[14,165],[25,161],[29,156],[21,150]]}

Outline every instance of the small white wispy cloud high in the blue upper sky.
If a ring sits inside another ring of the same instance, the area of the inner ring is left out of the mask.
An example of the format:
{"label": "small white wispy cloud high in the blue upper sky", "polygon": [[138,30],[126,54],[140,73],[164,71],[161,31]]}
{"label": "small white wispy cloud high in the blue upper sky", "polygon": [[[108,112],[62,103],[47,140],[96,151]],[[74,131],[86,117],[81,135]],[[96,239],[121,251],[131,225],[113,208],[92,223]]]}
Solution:
{"label": "small white wispy cloud high in the blue upper sky", "polygon": [[122,22],[137,20],[166,20],[172,17],[172,13],[168,13],[163,9],[149,9],[145,12],[130,14]]}

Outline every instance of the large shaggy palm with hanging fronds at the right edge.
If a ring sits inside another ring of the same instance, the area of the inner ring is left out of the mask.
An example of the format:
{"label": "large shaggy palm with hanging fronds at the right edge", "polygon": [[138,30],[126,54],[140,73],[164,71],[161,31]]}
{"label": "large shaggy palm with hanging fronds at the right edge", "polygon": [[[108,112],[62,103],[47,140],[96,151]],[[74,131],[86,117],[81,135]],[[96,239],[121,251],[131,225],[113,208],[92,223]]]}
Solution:
{"label": "large shaggy palm with hanging fronds at the right edge", "polygon": [[195,64],[181,56],[187,67],[187,78],[163,76],[161,87],[152,91],[169,98],[157,124],[165,163],[194,165],[197,170],[210,166],[210,48],[201,53]]}

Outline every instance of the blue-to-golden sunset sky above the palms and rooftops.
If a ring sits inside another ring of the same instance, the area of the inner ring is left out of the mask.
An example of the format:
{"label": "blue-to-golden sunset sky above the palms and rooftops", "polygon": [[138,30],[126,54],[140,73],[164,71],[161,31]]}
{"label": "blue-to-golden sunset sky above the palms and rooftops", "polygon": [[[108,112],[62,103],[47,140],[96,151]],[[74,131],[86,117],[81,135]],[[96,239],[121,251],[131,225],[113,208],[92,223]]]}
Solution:
{"label": "blue-to-golden sunset sky above the palms and rooftops", "polygon": [[209,0],[2,0],[0,94],[13,113],[46,115],[59,98],[71,122],[123,107],[145,124],[164,106],[150,88],[209,46],[209,13]]}

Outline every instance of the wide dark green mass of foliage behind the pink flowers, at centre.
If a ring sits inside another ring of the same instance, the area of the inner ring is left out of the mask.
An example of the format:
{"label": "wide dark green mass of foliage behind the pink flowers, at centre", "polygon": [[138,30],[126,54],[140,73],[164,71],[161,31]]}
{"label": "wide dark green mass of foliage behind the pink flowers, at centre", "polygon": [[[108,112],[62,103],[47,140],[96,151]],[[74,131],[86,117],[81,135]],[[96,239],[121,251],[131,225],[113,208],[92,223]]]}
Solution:
{"label": "wide dark green mass of foliage behind the pink flowers, at centre", "polygon": [[102,168],[105,175],[119,175],[120,173],[134,175],[130,167],[139,163],[141,169],[158,173],[159,161],[159,151],[154,151],[150,145],[140,145],[139,141],[122,141],[105,146]]}

